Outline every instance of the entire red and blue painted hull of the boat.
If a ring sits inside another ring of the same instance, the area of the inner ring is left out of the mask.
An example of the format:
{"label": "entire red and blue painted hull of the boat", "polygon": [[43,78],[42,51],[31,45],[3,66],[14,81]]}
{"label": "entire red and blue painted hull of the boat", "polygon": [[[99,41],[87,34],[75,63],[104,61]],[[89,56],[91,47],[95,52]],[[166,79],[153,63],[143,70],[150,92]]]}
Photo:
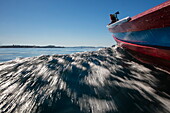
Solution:
{"label": "entire red and blue painted hull of the boat", "polygon": [[170,0],[109,31],[136,59],[170,72]]}

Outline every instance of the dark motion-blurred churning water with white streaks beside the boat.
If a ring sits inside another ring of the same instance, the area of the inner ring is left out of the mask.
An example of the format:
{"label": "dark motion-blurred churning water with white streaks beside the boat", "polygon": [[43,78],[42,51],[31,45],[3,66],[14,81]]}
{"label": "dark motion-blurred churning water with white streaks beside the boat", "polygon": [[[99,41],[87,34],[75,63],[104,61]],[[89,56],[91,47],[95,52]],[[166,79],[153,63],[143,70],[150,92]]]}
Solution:
{"label": "dark motion-blurred churning water with white streaks beside the boat", "polygon": [[0,63],[0,112],[169,113],[170,75],[115,46]]}

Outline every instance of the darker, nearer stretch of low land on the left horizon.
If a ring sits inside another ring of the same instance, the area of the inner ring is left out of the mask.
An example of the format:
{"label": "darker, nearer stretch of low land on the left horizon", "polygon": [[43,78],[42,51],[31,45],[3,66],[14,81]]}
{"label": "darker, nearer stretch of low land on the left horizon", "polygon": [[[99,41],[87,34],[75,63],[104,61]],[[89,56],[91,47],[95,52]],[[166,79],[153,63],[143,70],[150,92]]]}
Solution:
{"label": "darker, nearer stretch of low land on the left horizon", "polygon": [[0,48],[65,48],[63,46],[31,46],[31,45],[6,45],[6,46],[0,46]]}

